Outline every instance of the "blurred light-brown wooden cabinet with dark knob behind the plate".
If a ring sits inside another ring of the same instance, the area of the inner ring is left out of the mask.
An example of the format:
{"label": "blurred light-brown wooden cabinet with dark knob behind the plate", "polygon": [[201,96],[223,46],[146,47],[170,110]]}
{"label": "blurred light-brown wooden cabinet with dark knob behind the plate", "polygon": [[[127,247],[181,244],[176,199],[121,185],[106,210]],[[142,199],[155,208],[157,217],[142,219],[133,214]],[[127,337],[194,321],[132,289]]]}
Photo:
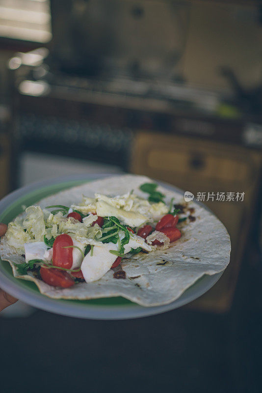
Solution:
{"label": "blurred light-brown wooden cabinet with dark knob behind the plate", "polygon": [[222,278],[191,304],[202,309],[230,308],[240,261],[257,202],[262,167],[260,151],[209,140],[141,132],[136,135],[131,172],[174,184],[192,192],[244,192],[243,201],[204,201],[228,229],[231,262]]}

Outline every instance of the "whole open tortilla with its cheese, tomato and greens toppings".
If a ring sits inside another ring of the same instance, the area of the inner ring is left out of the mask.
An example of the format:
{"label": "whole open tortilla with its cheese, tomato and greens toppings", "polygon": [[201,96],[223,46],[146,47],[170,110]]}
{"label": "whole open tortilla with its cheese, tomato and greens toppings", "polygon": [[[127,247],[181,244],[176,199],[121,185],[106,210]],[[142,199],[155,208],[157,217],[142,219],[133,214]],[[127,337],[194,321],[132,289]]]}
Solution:
{"label": "whole open tortilla with its cheese, tomato and greens toppings", "polygon": [[121,295],[143,306],[175,300],[203,274],[224,270],[229,254],[228,233],[210,212],[136,175],[86,183],[28,206],[0,246],[14,276],[34,281],[47,296]]}

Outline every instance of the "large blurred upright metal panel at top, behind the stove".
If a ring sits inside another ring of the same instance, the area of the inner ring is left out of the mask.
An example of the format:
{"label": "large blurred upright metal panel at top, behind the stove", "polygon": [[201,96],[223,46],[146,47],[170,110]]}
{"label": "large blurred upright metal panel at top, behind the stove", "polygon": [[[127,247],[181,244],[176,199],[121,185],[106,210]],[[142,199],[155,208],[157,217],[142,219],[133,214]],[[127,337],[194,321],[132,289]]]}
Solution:
{"label": "large blurred upright metal panel at top, behind the stove", "polygon": [[180,77],[189,3],[51,0],[53,66],[84,76]]}

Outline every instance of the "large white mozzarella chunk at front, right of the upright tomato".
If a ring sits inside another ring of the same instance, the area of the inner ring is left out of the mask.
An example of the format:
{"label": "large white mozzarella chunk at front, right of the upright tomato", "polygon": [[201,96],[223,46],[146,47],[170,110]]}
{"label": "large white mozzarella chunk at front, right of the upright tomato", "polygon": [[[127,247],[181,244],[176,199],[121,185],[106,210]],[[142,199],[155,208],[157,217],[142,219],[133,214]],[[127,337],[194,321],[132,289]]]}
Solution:
{"label": "large white mozzarella chunk at front, right of the upright tomato", "polygon": [[81,272],[86,282],[92,282],[101,279],[111,268],[117,256],[109,253],[109,250],[118,250],[117,244],[101,243],[94,246],[93,255],[89,252],[83,259]]}

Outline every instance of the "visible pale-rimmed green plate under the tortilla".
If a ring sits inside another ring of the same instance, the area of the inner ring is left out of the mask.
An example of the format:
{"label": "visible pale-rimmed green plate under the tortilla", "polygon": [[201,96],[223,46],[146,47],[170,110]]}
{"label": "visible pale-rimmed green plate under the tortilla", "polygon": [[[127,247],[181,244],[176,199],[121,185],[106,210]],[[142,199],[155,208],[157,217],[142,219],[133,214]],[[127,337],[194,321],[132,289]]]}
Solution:
{"label": "visible pale-rimmed green plate under the tortilla", "polygon": [[[20,188],[0,201],[0,222],[8,224],[23,211],[23,205],[32,205],[38,200],[59,191],[109,176],[111,174],[108,173],[72,175],[42,180]],[[181,195],[184,194],[177,187],[159,181],[157,183],[171,191],[176,191]],[[199,204],[205,209],[208,209],[202,203]],[[38,309],[71,317],[89,319],[131,319],[177,309],[207,292],[219,280],[222,274],[223,272],[212,276],[203,276],[183,292],[179,299],[170,304],[156,307],[142,307],[122,297],[91,300],[57,300],[48,298],[39,292],[33,282],[15,279],[9,262],[0,259],[0,287],[10,293],[10,295]]]}

